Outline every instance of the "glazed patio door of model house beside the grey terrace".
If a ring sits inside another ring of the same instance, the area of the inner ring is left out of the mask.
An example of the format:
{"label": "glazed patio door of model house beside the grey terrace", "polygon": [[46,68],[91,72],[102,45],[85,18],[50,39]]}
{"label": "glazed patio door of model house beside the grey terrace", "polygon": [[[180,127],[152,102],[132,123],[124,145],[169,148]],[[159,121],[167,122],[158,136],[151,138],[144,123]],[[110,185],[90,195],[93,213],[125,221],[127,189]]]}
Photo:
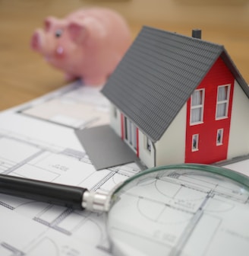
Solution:
{"label": "glazed patio door of model house beside the grey terrace", "polygon": [[131,120],[128,120],[127,117],[123,118],[124,141],[137,153],[137,126],[135,126]]}

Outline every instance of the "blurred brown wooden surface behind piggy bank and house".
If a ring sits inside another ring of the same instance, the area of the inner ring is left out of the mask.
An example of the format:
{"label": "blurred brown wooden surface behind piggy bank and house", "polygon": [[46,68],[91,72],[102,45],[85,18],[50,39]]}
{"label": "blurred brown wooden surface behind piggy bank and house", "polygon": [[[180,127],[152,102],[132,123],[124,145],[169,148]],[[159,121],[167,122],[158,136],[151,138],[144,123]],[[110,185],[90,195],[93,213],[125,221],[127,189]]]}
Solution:
{"label": "blurred brown wooden surface behind piggy bank and house", "polygon": [[[87,2],[87,4],[85,4]],[[200,4],[199,2],[202,2]],[[30,37],[48,15],[63,17],[86,5],[105,5],[128,20],[133,37],[145,24],[225,45],[249,83],[249,4],[247,0],[0,0],[0,110],[24,103],[65,85],[62,72],[30,50]],[[224,1],[221,1],[221,3]]]}

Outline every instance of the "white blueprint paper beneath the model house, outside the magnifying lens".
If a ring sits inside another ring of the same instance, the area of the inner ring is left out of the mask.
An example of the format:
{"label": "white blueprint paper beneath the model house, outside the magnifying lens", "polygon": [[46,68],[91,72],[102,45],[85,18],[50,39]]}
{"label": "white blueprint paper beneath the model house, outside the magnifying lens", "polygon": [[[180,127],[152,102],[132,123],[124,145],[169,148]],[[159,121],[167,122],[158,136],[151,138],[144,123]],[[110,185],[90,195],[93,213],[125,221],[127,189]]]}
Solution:
{"label": "white blueprint paper beneath the model house, outside the magnifying lens", "polygon": [[[76,129],[109,123],[109,102],[99,89],[74,82],[2,111],[0,173],[108,193],[139,172],[135,163],[96,171],[75,136]],[[228,167],[247,166],[245,160]],[[101,213],[0,194],[0,216],[1,256],[111,255]]]}

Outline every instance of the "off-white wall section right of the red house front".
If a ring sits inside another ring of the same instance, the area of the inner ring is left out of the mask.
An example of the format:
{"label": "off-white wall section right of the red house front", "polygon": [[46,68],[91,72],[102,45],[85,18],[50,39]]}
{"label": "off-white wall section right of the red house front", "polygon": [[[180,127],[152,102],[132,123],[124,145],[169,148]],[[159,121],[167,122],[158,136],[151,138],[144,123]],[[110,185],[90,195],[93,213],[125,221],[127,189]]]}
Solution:
{"label": "off-white wall section right of the red house front", "polygon": [[235,82],[228,158],[249,154],[249,99]]}

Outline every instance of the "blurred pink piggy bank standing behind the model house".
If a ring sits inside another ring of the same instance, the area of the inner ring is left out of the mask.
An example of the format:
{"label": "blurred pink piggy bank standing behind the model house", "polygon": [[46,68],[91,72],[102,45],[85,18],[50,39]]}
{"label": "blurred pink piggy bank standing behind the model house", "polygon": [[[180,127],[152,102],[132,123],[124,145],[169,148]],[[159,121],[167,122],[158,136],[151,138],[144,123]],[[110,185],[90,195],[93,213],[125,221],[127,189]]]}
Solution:
{"label": "blurred pink piggy bank standing behind the model house", "polygon": [[82,78],[84,84],[102,85],[131,44],[124,18],[107,8],[86,8],[64,19],[48,17],[44,30],[31,39],[41,53],[67,80]]}

